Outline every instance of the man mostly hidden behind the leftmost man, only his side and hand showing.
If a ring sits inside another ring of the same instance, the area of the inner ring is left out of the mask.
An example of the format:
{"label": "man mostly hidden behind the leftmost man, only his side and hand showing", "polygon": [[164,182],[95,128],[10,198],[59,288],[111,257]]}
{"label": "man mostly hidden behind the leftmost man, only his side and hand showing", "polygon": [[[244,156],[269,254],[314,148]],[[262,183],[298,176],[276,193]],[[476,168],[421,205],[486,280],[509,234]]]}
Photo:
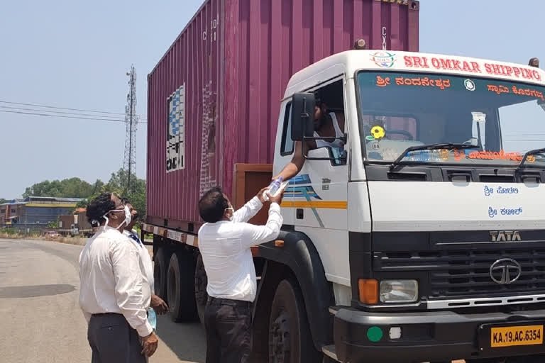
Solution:
{"label": "man mostly hidden behind the leftmost man, only his side and hand showing", "polygon": [[[128,210],[131,212],[131,223],[128,223],[128,225],[125,226],[123,230],[123,235],[126,235],[128,238],[133,240],[136,247],[138,247],[138,253],[140,254],[140,259],[143,264],[143,267],[145,269],[145,276],[148,278],[148,283],[150,284],[150,291],[151,291],[151,302],[150,307],[153,308],[153,311],[155,313],[158,313],[159,315],[164,315],[168,311],[168,306],[165,301],[160,298],[159,296],[155,295],[155,286],[154,286],[154,279],[153,279],[153,263],[151,262],[151,256],[148,249],[145,247],[145,245],[142,243],[140,238],[138,237],[138,233],[136,230],[133,230],[134,226],[138,222],[138,211],[133,207],[131,203],[129,203],[126,200],[123,200],[125,203],[125,206],[128,207]],[[152,313],[148,310],[148,315]]]}

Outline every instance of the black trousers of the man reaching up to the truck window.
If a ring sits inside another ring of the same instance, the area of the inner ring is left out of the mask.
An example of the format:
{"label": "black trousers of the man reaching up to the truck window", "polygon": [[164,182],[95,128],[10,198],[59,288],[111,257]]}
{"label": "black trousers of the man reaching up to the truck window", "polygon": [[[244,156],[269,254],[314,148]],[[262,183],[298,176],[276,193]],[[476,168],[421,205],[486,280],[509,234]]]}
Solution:
{"label": "black trousers of the man reaching up to the truck window", "polygon": [[204,311],[207,363],[247,363],[252,347],[252,303],[209,298]]}

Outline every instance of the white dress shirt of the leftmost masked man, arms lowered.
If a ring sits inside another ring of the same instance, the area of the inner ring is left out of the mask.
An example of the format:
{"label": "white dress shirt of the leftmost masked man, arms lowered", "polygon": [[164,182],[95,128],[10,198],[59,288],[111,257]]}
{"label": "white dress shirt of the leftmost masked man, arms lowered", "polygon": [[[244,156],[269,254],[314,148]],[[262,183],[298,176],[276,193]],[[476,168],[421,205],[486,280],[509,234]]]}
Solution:
{"label": "white dress shirt of the leftmost masked man, arms lowered", "polygon": [[150,285],[138,250],[119,230],[101,227],[79,255],[79,306],[89,322],[92,314],[123,314],[141,337],[148,323]]}

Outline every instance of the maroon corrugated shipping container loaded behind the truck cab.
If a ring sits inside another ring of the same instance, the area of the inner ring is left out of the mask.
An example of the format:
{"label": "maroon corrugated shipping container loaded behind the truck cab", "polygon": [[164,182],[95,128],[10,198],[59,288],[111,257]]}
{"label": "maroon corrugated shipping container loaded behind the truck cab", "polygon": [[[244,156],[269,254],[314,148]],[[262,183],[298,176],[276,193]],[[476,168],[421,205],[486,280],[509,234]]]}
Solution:
{"label": "maroon corrugated shipping container loaded behind the truck cab", "polygon": [[148,75],[148,222],[198,223],[233,164],[272,162],[292,74],[357,38],[418,51],[418,29],[418,1],[207,0]]}

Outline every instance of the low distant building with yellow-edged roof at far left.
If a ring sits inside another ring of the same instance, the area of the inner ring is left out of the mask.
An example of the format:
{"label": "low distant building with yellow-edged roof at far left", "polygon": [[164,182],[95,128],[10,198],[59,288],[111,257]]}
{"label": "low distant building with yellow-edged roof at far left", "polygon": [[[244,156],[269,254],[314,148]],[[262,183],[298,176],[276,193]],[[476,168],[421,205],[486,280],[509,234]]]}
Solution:
{"label": "low distant building with yellow-edged roof at far left", "polygon": [[42,230],[60,216],[72,214],[79,198],[29,196],[0,204],[0,227],[11,227],[24,232]]}

